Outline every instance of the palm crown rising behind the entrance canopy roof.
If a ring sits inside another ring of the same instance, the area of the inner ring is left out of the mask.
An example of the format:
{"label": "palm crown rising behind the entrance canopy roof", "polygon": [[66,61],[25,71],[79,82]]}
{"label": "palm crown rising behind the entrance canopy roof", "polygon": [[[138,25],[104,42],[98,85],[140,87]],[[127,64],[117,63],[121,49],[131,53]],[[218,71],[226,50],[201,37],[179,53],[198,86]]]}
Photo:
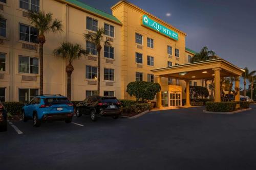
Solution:
{"label": "palm crown rising behind the entrance canopy roof", "polygon": [[197,53],[194,57],[191,58],[191,63],[212,60],[216,58],[218,58],[216,56],[216,53],[212,50],[209,50],[207,46],[204,46],[199,53]]}

